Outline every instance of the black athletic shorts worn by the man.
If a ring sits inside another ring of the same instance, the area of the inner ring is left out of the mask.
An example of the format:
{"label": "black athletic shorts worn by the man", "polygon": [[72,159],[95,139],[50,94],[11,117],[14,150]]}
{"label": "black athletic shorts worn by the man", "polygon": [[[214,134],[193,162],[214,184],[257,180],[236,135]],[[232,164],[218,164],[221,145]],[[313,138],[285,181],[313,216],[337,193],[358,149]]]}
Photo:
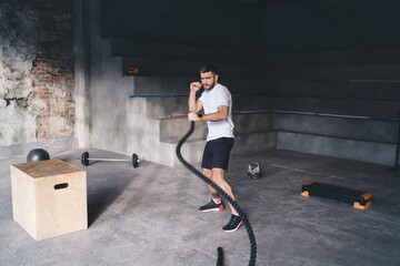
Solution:
{"label": "black athletic shorts worn by the man", "polygon": [[233,142],[233,137],[220,137],[207,142],[201,167],[208,170],[223,168],[228,171],[229,154],[232,150]]}

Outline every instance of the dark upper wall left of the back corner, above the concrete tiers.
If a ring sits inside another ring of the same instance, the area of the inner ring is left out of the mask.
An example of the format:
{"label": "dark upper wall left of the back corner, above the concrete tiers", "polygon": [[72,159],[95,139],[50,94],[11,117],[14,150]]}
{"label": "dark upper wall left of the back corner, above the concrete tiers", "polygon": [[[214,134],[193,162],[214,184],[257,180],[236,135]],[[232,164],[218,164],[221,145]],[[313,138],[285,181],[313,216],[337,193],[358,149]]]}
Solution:
{"label": "dark upper wall left of the back corner, above the concrete tiers", "polygon": [[102,1],[102,35],[261,51],[262,10],[219,1]]}

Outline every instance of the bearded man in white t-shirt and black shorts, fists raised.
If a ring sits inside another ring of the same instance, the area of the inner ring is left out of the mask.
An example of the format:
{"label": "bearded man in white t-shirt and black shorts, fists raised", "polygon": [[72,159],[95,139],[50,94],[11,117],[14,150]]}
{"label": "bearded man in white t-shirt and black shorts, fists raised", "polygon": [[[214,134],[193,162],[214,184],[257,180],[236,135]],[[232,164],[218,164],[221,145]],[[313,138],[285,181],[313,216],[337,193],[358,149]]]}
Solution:
{"label": "bearded man in white t-shirt and black shorts, fists raised", "polygon": [[[221,187],[233,201],[236,201],[232,187],[227,182],[224,174],[228,171],[229,154],[233,146],[232,122],[232,96],[228,89],[218,83],[216,66],[203,65],[200,68],[200,82],[190,84],[189,114],[190,121],[207,121],[208,135],[201,167],[203,175]],[[200,99],[196,101],[196,93],[204,89]],[[197,114],[200,110],[204,114]],[[222,211],[223,205],[216,190],[208,185],[211,193],[211,202],[201,206],[200,212]],[[226,232],[234,232],[243,223],[237,211],[230,205],[231,218],[222,227]]]}

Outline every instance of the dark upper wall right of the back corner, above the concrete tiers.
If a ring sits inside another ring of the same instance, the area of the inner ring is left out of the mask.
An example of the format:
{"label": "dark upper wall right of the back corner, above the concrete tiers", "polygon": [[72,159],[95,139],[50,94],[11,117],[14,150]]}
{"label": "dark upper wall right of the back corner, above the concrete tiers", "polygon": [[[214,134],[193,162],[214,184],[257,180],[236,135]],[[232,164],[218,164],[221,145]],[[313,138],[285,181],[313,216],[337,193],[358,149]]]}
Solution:
{"label": "dark upper wall right of the back corner, above the concrete tiers", "polygon": [[263,9],[263,51],[400,45],[397,0],[274,1]]}

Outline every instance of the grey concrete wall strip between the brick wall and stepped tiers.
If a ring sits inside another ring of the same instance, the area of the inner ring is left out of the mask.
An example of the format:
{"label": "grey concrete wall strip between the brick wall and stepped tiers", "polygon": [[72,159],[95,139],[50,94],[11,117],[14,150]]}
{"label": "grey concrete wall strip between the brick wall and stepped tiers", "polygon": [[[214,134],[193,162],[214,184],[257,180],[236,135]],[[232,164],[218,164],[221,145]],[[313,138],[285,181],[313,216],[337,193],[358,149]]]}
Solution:
{"label": "grey concrete wall strip between the brick wall and stepped tiers", "polygon": [[76,1],[76,10],[80,16],[76,50],[82,55],[76,69],[80,146],[132,154],[126,137],[131,134],[127,126],[127,100],[133,92],[133,78],[122,76],[121,58],[112,58],[110,41],[101,38],[100,2]]}

